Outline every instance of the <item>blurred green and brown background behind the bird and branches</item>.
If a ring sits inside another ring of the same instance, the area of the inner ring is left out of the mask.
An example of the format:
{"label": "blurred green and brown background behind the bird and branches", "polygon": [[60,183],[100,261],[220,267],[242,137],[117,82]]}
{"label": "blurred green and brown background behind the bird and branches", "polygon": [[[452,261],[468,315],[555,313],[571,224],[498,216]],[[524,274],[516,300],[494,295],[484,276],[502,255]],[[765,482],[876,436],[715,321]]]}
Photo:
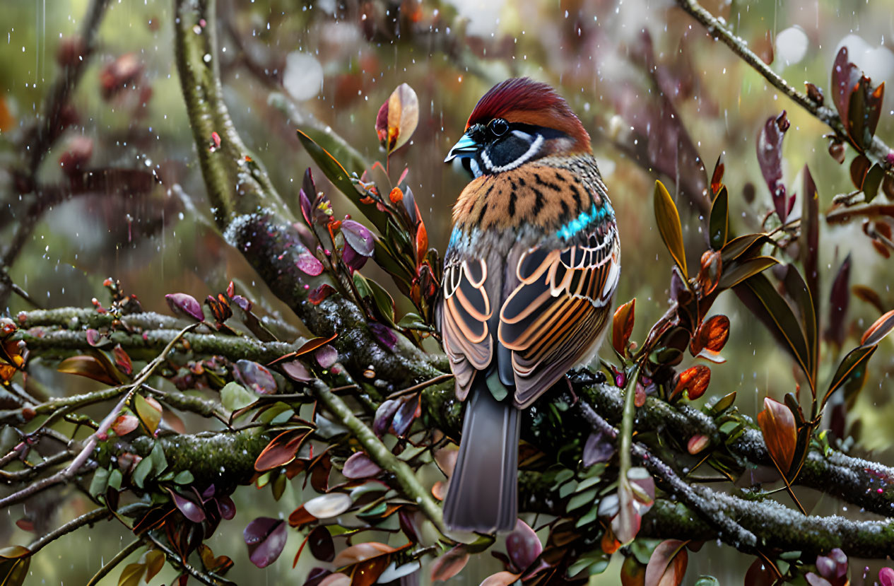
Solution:
{"label": "blurred green and brown background behind the bird and branches", "polygon": [[[64,58],[61,47],[80,30],[88,6],[83,0],[4,2],[0,214],[8,213],[9,202],[19,197],[13,169],[21,166],[23,138],[55,79],[57,59]],[[706,2],[705,7],[730,22],[755,52],[772,58],[772,68],[798,89],[803,89],[805,81],[829,87],[832,60],[842,43],[873,82],[894,81],[891,0],[732,0]],[[828,128],[768,87],[671,2],[222,0],[217,15],[214,24],[219,30],[218,57],[227,105],[249,149],[292,202],[304,169],[311,164],[295,138],[296,128],[329,128],[369,164],[384,162],[375,136],[375,114],[397,85],[407,82],[416,90],[418,128],[409,145],[392,156],[391,174],[394,179],[409,167],[407,181],[416,194],[429,242],[442,251],[452,202],[467,182],[460,169],[442,161],[459,139],[477,99],[494,82],[511,76],[528,75],[555,85],[591,133],[609,186],[623,250],[618,300],[637,298],[634,340],[642,340],[667,307],[671,263],[654,225],[656,177],[671,194],[678,194],[689,263],[697,263],[704,250],[700,211],[680,191],[681,185],[696,184],[699,173],[686,156],[687,139],[680,134],[681,128],[705,161],[708,174],[722,154],[732,228],[738,233],[757,230],[764,213],[772,208],[757,166],[755,140],[764,121],[783,109],[792,123],[783,166],[789,192],[803,191],[805,164],[818,186],[821,212],[831,207],[836,194],[850,190],[847,165],[853,151],[848,151],[844,166],[837,165],[822,138]],[[172,3],[122,0],[111,4],[98,32],[97,53],[72,100],[75,123],[39,171],[41,183],[63,185],[60,157],[78,147],[78,140],[82,146],[83,139],[88,139],[89,166],[149,171],[161,183],[150,191],[94,193],[56,205],[42,217],[10,274],[44,307],[89,306],[94,297],[105,300],[102,281],[113,276],[127,293],[139,296],[144,308],[163,312],[167,312],[164,293],[183,291],[201,299],[234,279],[242,294],[248,292],[266,311],[294,322],[239,254],[210,227],[196,146],[173,62],[172,19]],[[651,55],[644,41],[646,32]],[[119,65],[133,66],[135,72],[126,88],[104,97],[104,72],[116,60]],[[667,106],[662,106],[662,93],[676,113],[673,122],[669,122]],[[826,95],[827,103],[831,102],[828,90]],[[894,141],[892,109],[894,96],[889,95],[877,132],[889,144]],[[637,150],[645,152],[645,161],[635,160],[632,153]],[[679,178],[650,171],[648,167],[654,168],[650,160],[665,171],[676,171]],[[325,188],[322,175],[317,176]],[[751,201],[748,191],[754,192]],[[337,214],[352,211],[346,200],[333,189],[330,192]],[[795,209],[797,216],[800,203]],[[0,231],[0,242],[10,242],[13,229],[14,223]],[[822,315],[828,312],[831,279],[848,254],[853,260],[851,284],[872,287],[887,309],[894,307],[890,260],[873,250],[859,223],[840,227],[823,223]],[[2,309],[14,314],[27,306],[13,297],[9,307]],[[739,408],[756,412],[764,396],[781,398],[793,391],[795,378],[788,354],[780,352],[731,293],[721,297],[715,312],[730,317],[731,336],[723,352],[728,362],[713,368],[708,396],[735,390]],[[855,336],[877,316],[870,305],[851,300],[848,324]],[[852,336],[845,347],[854,344]],[[848,414],[848,422],[861,423],[856,453],[889,464],[894,463],[891,344],[884,342],[876,353],[864,393]],[[822,352],[824,380],[837,360],[834,349],[824,347]],[[67,378],[46,382],[60,385],[55,390],[59,394],[75,387]],[[228,577],[240,583],[299,582],[300,566],[291,569],[300,543],[298,534],[291,533],[283,556],[266,571],[249,563],[241,539],[242,528],[257,514],[291,512],[300,503],[299,491],[289,488],[278,503],[268,490],[254,488],[241,488],[234,497],[239,511],[236,519],[224,522],[210,542],[216,554],[236,561]],[[860,515],[829,497],[807,497],[805,505],[823,514]],[[84,506],[77,497],[70,500],[48,526],[79,514]],[[0,514],[0,545],[33,539],[13,524],[19,516],[21,507]],[[114,523],[60,539],[36,556],[29,583],[86,582],[103,560],[128,541]],[[729,548],[721,553],[716,544],[707,544],[690,556],[686,582],[694,582],[699,573],[713,573],[721,583],[739,583],[750,561]],[[474,584],[499,569],[493,559],[485,567],[474,565],[485,563],[473,562],[454,582]],[[861,566],[852,560],[855,584],[863,583]],[[617,575],[611,567],[593,583],[615,583]],[[877,570],[869,575],[877,575]],[[114,572],[103,583],[116,583],[116,576]],[[166,570],[153,583],[166,583],[172,576]]]}

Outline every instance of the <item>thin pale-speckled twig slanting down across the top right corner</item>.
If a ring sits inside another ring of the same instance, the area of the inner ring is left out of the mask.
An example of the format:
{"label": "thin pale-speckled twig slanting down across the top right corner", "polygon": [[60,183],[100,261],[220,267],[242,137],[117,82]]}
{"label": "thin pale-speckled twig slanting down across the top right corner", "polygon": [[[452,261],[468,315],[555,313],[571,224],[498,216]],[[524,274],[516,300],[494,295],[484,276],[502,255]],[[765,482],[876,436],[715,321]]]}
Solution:
{"label": "thin pale-speckled twig slanting down across the top right corner", "polygon": [[[715,39],[723,41],[727,47],[732,49],[733,53],[738,55],[746,62],[746,64],[749,64],[756,72],[760,73],[763,76],[763,79],[770,82],[774,88],[779,89],[798,106],[801,106],[811,115],[814,115],[817,120],[829,126],[839,138],[843,140],[848,139],[848,129],[834,110],[830,107],[817,104],[814,100],[807,97],[805,93],[790,86],[788,81],[783,80],[779,73],[774,72],[767,64],[763,63],[763,60],[760,57],[755,55],[755,53],[748,48],[745,40],[730,32],[724,22],[715,18],[712,13],[705,10],[701,4],[698,4],[697,0],[677,0],[677,4],[687,14],[696,19],[696,21],[699,21],[702,26],[704,26],[705,30],[708,31],[709,35]],[[866,154],[872,156],[875,159],[875,162],[889,169],[891,167],[891,162],[888,160],[888,157],[891,152],[890,147],[877,136],[873,137],[873,143],[866,149]]]}

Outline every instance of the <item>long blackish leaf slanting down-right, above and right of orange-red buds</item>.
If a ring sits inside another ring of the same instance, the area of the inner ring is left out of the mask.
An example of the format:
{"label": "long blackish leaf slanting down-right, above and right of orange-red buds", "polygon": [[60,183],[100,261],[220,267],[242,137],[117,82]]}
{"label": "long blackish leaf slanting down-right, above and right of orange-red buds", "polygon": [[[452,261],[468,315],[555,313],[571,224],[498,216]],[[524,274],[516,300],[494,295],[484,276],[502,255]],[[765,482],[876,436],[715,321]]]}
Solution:
{"label": "long blackish leaf slanting down-right, above and right of orange-red buds", "polygon": [[752,276],[737,287],[736,293],[739,299],[745,302],[746,307],[763,322],[764,326],[768,327],[771,333],[783,342],[784,347],[791,352],[805,375],[810,377],[811,359],[807,353],[804,332],[789,304],[782,299],[780,293],[771,285],[770,280],[763,275]]}

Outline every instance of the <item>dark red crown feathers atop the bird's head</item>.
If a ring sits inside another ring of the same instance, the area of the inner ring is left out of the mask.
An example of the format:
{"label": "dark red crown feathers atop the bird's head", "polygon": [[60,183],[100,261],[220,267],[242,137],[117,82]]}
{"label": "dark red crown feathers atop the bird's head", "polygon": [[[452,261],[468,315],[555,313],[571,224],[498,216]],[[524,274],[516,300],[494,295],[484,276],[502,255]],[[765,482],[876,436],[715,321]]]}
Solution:
{"label": "dark red crown feathers atop the bird's head", "polygon": [[590,135],[568,102],[549,85],[527,77],[501,81],[478,100],[468,116],[466,130],[487,124],[494,118],[510,123],[526,123],[565,132],[575,144],[571,150],[590,152]]}

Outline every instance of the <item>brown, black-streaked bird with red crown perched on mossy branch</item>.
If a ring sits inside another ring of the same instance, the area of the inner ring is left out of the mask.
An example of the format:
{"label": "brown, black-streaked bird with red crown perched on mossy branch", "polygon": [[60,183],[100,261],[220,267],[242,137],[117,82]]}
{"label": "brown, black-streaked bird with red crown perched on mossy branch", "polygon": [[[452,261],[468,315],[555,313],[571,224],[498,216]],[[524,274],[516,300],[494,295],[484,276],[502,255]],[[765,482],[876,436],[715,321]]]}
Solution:
{"label": "brown, black-streaked bird with red crown perched on mossy branch", "polygon": [[472,179],[453,206],[435,321],[466,405],[444,524],[512,531],[520,412],[602,344],[618,226],[590,136],[548,84],[493,86],[454,159]]}

